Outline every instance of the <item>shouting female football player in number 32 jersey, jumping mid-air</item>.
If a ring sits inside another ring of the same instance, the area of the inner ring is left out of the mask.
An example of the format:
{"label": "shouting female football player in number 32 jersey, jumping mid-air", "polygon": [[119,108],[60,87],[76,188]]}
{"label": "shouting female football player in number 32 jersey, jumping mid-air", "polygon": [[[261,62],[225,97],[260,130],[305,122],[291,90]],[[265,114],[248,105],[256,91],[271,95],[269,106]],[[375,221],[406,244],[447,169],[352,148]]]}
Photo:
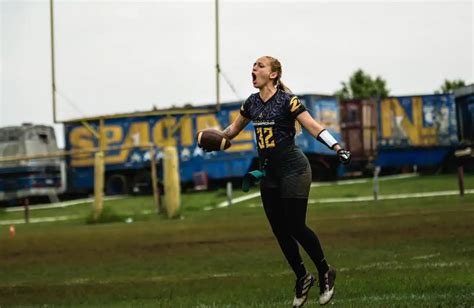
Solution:
{"label": "shouting female football player in number 32 jersey, jumping mid-air", "polygon": [[259,90],[250,95],[240,109],[240,115],[223,132],[237,136],[253,122],[260,166],[265,176],[260,181],[260,193],[265,214],[292,270],[296,274],[294,307],[301,307],[315,278],[306,271],[298,243],[308,253],[318,270],[321,305],[334,294],[336,270],[329,266],[316,234],[306,225],[306,209],[311,185],[308,159],[295,145],[295,134],[302,125],[308,132],[336,151],[342,163],[349,163],[351,154],[341,148],[334,137],[316,122],[281,81],[280,62],[269,56],[253,65],[252,82]]}

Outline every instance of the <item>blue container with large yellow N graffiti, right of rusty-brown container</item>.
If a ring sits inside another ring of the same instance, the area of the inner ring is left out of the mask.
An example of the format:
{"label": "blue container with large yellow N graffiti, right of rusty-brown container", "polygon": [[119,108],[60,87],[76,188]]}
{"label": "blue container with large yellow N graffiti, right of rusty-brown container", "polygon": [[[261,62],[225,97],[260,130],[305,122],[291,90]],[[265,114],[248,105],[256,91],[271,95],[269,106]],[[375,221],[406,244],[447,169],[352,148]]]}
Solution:
{"label": "blue container with large yellow N graffiti, right of rusty-brown container", "polygon": [[454,96],[400,96],[378,105],[378,154],[381,167],[440,167],[458,145]]}

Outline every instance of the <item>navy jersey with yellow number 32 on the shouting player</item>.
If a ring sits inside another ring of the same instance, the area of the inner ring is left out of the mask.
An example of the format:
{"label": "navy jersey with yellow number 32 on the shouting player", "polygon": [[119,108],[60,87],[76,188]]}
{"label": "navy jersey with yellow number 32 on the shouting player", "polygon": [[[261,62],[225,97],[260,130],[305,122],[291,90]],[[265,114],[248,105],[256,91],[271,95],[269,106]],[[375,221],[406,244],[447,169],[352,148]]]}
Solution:
{"label": "navy jersey with yellow number 32 on the shouting player", "polygon": [[295,119],[304,111],[306,108],[298,97],[281,90],[265,103],[259,93],[254,93],[240,108],[240,114],[253,122],[260,156],[294,144]]}

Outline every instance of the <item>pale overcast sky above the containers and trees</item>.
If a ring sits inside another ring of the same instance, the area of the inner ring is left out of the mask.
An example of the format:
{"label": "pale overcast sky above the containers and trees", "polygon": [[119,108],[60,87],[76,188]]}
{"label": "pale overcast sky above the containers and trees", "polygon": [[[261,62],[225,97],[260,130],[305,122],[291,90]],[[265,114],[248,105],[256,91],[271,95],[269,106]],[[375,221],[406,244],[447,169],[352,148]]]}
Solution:
{"label": "pale overcast sky above the containers and trees", "polygon": [[[52,124],[49,1],[1,1],[0,126]],[[215,102],[214,1],[55,0],[58,119]],[[474,82],[472,1],[220,1],[221,99],[272,55],[295,93],[357,68],[391,95]],[[62,130],[56,126],[60,145]]]}

